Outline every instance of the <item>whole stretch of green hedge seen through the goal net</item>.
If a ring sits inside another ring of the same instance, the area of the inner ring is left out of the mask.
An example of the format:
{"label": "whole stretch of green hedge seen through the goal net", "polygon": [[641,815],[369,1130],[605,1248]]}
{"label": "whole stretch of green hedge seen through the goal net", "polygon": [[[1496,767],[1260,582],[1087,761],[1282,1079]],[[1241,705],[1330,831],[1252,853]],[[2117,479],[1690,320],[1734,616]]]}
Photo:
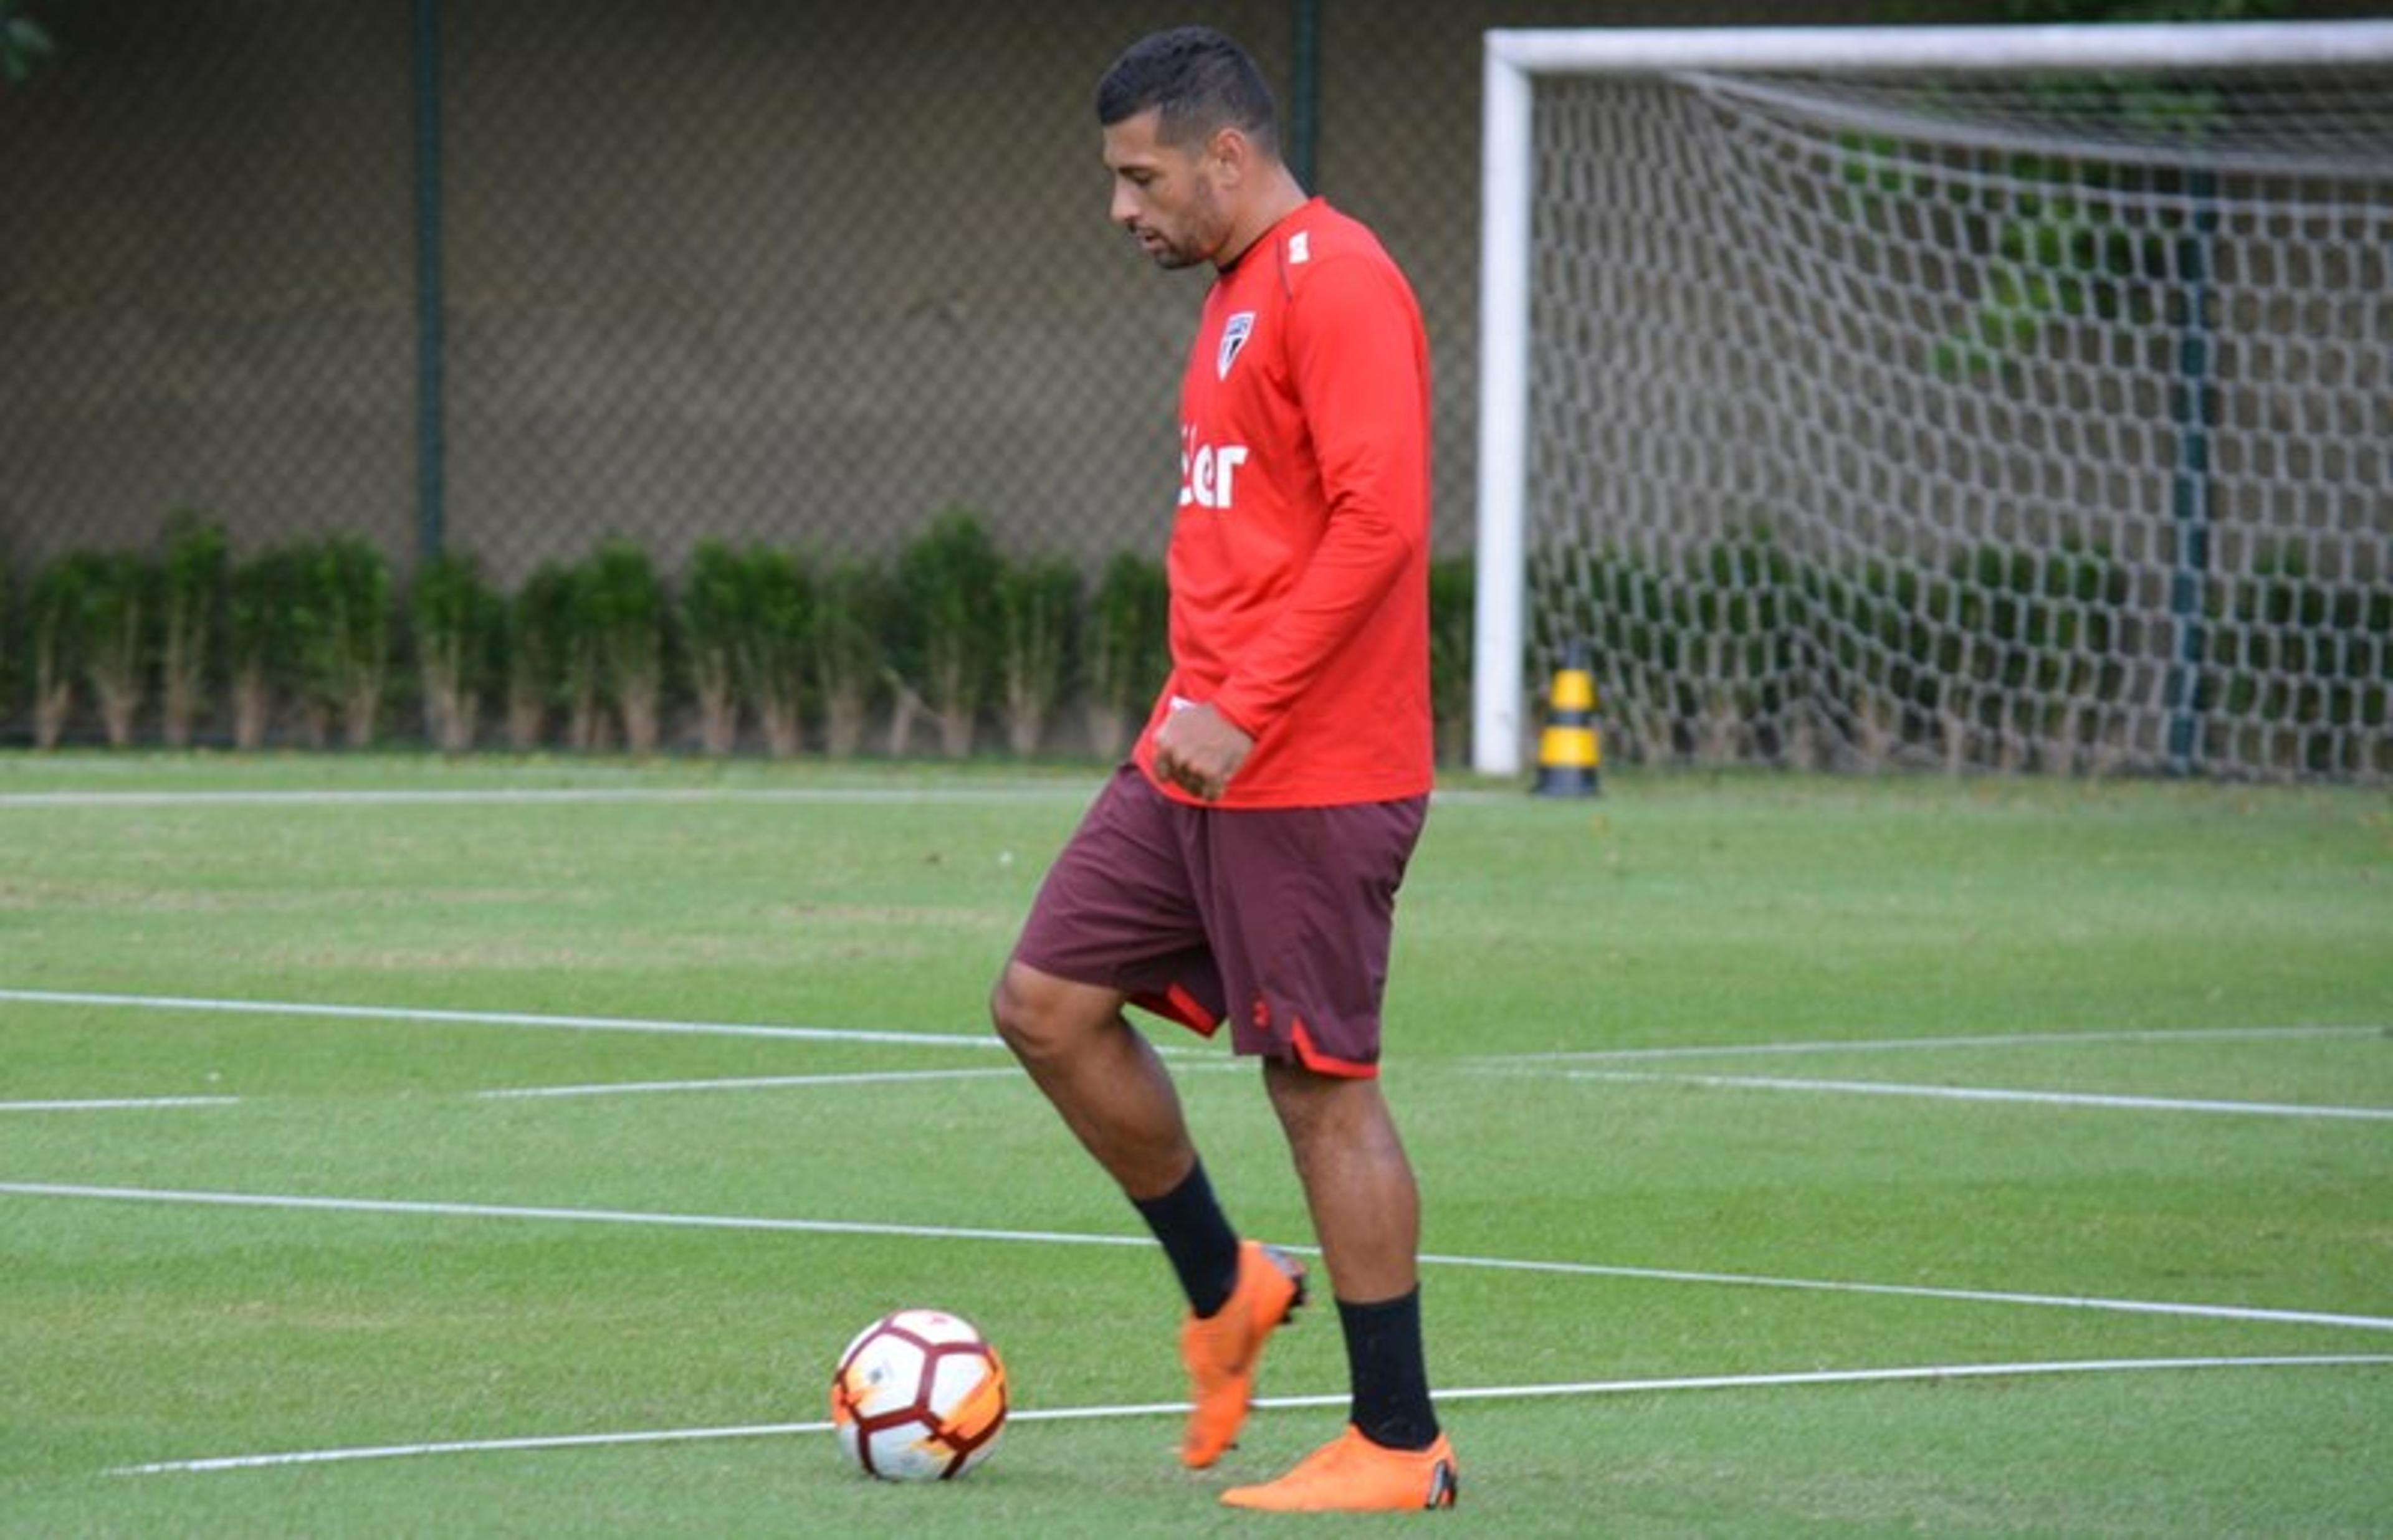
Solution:
{"label": "whole stretch of green hedge seen through the goal net", "polygon": [[[1541,552],[1532,612],[1587,650],[1632,758],[1804,760],[1790,737],[1840,734],[1823,763],[2082,770],[2178,643],[2087,543],[1981,543],[1946,562],[1816,560],[1766,528],[1677,557],[1618,545]],[[2326,581],[2297,545],[2202,591],[2190,701],[2221,770],[2383,775],[2393,722],[2393,588]]]}

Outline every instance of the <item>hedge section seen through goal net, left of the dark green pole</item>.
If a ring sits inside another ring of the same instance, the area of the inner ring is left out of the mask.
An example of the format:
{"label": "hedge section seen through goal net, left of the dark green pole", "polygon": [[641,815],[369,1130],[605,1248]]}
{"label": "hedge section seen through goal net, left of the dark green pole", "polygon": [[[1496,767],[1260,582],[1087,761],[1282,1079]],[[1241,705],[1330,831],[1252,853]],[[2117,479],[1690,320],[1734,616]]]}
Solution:
{"label": "hedge section seen through goal net, left of the dark green pole", "polygon": [[[2080,540],[1943,564],[1809,560],[1768,531],[1675,560],[1532,564],[1548,646],[1589,650],[1627,758],[2087,770],[2127,689],[2127,569]],[[1807,739],[1821,727],[1835,741]],[[2060,756],[2060,758],[2048,758]]]}

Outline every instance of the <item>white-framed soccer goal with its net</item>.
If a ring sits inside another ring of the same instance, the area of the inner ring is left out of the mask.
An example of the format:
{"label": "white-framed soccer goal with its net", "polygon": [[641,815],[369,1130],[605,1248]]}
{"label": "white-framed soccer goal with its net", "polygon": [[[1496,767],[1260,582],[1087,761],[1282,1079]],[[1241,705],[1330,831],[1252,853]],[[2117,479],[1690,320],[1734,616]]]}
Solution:
{"label": "white-framed soccer goal with its net", "polygon": [[1476,768],[2393,777],[2393,24],[1486,79]]}

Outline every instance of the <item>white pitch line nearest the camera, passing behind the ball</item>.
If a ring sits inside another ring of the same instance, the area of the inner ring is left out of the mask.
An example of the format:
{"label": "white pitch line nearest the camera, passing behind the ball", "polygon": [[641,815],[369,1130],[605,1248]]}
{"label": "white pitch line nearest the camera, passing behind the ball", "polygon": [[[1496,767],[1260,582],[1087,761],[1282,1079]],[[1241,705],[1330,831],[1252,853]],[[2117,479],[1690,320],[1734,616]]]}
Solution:
{"label": "white pitch line nearest the camera, passing behind the ball", "polygon": [[[1778,1389],[1795,1385],[1898,1385],[1917,1380],[1996,1380],[2024,1375],[2125,1375],[2197,1368],[2383,1368],[2388,1353],[2276,1356],[2276,1358],[2089,1358],[2065,1363],[1943,1363],[1919,1368],[1802,1370],[1785,1375],[1694,1375],[1685,1380],[1584,1380],[1577,1385],[1484,1385],[1441,1389],[1438,1401],[1527,1401],[1541,1397],[1637,1397],[1689,1389]],[[1259,1408],[1292,1411],[1345,1406],[1347,1397],[1256,1397]],[[1146,1418],[1187,1411],[1187,1401],[1146,1401],[1132,1406],[1017,1406],[1015,1423],[1089,1423],[1098,1418]],[[565,1432],[553,1437],[455,1440],[443,1444],[378,1444],[359,1449],[294,1449],[287,1454],[227,1454],[218,1459],[172,1459],[148,1466],[117,1466],[108,1475],[191,1475],[211,1471],[263,1471],[273,1466],[330,1466],[366,1459],[412,1459],[426,1454],[510,1454],[526,1449],[596,1449],[622,1444],[684,1444],[699,1440],[754,1440],[802,1432],[830,1432],[830,1423],[754,1423],[747,1428],[658,1428],[649,1432]]]}

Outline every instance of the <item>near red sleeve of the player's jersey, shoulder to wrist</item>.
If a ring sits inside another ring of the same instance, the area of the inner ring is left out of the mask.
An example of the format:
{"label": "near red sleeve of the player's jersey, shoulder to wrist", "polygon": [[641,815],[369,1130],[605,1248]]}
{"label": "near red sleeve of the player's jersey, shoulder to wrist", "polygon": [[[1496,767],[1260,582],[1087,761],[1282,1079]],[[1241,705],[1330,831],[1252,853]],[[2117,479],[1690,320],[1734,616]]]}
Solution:
{"label": "near red sleeve of the player's jersey, shoulder to wrist", "polygon": [[1287,361],[1328,524],[1271,627],[1213,708],[1261,739],[1369,624],[1429,538],[1429,380],[1412,297],[1333,258],[1287,304]]}

